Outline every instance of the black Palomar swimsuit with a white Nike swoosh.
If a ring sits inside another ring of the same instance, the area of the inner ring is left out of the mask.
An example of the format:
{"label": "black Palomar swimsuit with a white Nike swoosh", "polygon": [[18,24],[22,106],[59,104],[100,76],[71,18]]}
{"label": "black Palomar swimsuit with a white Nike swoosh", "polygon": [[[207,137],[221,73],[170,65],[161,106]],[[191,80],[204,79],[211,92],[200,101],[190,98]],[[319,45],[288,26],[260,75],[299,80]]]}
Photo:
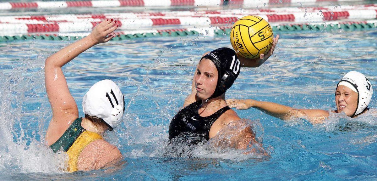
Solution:
{"label": "black Palomar swimsuit with a white Nike swoosh", "polygon": [[202,117],[198,113],[201,103],[202,101],[194,102],[178,111],[178,113],[172,119],[172,122],[170,122],[170,140],[184,132],[195,133],[196,136],[208,140],[210,128],[213,122],[215,122],[222,113],[225,113],[225,111],[231,109],[230,107],[226,106],[216,111],[216,113],[213,113],[211,116]]}

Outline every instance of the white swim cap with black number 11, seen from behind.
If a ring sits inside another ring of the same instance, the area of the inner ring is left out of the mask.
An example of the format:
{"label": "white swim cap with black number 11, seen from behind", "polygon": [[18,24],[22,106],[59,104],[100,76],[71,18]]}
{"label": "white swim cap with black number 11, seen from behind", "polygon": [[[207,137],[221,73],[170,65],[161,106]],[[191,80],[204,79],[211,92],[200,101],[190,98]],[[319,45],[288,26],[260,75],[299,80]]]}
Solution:
{"label": "white swim cap with black number 11, seen from behind", "polygon": [[112,80],[101,80],[90,87],[83,98],[86,115],[103,119],[113,130],[122,120],[124,96]]}

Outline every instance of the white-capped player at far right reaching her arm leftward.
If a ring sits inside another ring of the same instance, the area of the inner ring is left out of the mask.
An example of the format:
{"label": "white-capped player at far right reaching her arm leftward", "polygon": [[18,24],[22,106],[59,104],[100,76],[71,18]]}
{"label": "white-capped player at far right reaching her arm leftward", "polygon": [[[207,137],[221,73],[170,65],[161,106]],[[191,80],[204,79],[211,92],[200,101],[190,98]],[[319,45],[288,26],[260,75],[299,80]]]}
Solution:
{"label": "white-capped player at far right reaching her arm leftward", "polygon": [[[357,71],[350,71],[340,79],[335,91],[335,104],[337,110],[334,113],[345,113],[354,118],[369,110],[368,105],[372,99],[373,89],[371,82]],[[251,107],[265,113],[287,120],[290,118],[304,118],[312,124],[322,123],[329,116],[329,111],[318,109],[294,109],[273,102],[255,101],[252,99],[236,100],[227,99],[230,107],[248,109]]]}

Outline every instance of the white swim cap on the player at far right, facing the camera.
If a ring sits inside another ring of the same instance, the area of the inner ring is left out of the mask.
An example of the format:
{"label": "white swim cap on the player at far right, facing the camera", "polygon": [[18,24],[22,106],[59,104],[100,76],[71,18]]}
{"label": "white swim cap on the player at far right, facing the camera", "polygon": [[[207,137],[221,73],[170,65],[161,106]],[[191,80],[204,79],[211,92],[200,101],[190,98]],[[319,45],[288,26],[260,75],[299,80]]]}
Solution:
{"label": "white swim cap on the player at far right, facing the camera", "polygon": [[339,85],[344,85],[359,94],[357,97],[357,109],[351,117],[362,113],[366,107],[368,107],[372,99],[373,89],[371,82],[364,74],[357,71],[350,71],[340,79],[336,87]]}

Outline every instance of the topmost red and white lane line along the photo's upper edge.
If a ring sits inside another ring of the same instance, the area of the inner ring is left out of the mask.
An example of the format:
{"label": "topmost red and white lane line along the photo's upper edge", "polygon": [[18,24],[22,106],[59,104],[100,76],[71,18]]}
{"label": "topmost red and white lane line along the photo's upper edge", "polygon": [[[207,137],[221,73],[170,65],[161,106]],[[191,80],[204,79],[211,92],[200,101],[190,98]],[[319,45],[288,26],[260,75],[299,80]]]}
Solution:
{"label": "topmost red and white lane line along the photo's upper edge", "polygon": [[[314,4],[317,2],[346,2],[357,0],[305,0],[302,3]],[[363,0],[358,0],[363,1]],[[297,3],[291,0],[232,0],[229,5],[242,5],[244,7],[263,7],[282,3],[291,5]],[[3,2],[0,3],[0,9],[58,9],[69,7],[121,7],[121,6],[150,6],[150,7],[166,7],[166,6],[223,6],[222,0],[92,0],[92,1],[35,1],[35,2]]]}

